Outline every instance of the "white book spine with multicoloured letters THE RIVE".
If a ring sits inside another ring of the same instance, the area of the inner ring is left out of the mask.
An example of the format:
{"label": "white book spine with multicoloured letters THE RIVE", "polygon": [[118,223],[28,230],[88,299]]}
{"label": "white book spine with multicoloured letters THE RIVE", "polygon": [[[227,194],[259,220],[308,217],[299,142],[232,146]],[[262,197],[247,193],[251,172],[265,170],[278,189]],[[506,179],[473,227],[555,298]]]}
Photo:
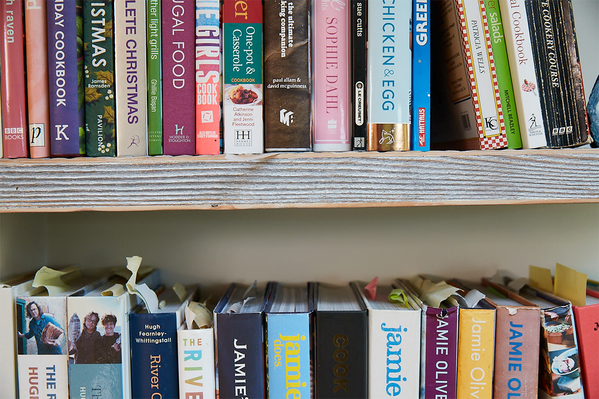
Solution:
{"label": "white book spine with multicoloured letters THE RIVE", "polygon": [[216,398],[214,329],[179,330],[179,397]]}

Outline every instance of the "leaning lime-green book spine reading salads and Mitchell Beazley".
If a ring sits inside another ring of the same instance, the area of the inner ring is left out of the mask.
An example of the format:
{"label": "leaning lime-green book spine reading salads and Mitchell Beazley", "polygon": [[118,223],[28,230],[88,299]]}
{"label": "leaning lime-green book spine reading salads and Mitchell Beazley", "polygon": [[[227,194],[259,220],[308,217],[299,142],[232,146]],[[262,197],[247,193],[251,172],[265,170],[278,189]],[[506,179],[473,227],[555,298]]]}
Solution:
{"label": "leaning lime-green book spine reading salads and Mitchell Beazley", "polygon": [[507,148],[522,148],[518,115],[516,114],[516,98],[514,97],[510,65],[507,62],[506,39],[503,36],[499,2],[497,0],[484,1],[495,61],[495,74],[497,74],[497,85],[501,97],[501,109],[506,125]]}

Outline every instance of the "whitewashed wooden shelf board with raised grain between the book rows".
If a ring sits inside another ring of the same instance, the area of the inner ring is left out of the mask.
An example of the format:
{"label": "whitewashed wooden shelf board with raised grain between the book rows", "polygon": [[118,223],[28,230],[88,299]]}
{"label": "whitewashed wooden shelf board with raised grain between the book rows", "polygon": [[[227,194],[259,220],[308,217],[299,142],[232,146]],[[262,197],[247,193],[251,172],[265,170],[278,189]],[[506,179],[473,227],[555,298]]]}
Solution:
{"label": "whitewashed wooden shelf board with raised grain between the book rows", "polygon": [[0,160],[0,212],[599,202],[599,150]]}

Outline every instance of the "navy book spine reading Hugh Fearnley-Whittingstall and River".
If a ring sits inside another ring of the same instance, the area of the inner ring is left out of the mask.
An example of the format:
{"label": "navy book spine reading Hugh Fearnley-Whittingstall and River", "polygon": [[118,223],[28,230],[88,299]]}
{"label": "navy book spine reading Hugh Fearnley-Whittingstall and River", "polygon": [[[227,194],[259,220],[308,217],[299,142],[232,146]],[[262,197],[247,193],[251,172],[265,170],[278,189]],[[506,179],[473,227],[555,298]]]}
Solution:
{"label": "navy book spine reading Hugh Fearnley-Whittingstall and River", "polygon": [[134,313],[131,333],[131,392],[134,399],[179,397],[177,318],[174,313]]}

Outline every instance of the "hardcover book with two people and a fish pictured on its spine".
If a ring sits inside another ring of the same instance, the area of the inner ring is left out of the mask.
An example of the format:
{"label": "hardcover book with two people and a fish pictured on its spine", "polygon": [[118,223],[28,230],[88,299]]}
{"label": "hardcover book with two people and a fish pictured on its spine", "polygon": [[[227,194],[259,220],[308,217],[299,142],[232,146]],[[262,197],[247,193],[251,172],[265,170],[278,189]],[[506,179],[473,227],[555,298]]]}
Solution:
{"label": "hardcover book with two people and a fish pictured on its spine", "polygon": [[[140,299],[126,291],[126,282],[117,277],[84,296],[66,299],[72,399],[83,395],[131,398],[129,313]],[[159,270],[139,284],[157,288]]]}

